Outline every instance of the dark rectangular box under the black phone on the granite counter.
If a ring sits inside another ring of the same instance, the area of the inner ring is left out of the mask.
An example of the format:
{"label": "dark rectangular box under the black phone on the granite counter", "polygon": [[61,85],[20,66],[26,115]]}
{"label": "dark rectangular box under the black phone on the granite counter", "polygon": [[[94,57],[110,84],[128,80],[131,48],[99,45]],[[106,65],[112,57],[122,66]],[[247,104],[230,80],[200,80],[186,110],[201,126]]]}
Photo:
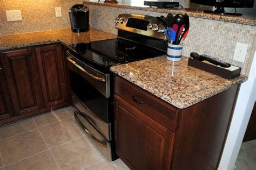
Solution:
{"label": "dark rectangular box under the black phone on the granite counter", "polygon": [[224,77],[225,79],[234,79],[235,77],[238,77],[241,73],[241,67],[233,65],[231,65],[230,68],[218,67],[210,63],[195,60],[193,58],[188,58],[187,65],[198,68],[200,70],[204,70],[205,72],[219,75],[221,77]]}

